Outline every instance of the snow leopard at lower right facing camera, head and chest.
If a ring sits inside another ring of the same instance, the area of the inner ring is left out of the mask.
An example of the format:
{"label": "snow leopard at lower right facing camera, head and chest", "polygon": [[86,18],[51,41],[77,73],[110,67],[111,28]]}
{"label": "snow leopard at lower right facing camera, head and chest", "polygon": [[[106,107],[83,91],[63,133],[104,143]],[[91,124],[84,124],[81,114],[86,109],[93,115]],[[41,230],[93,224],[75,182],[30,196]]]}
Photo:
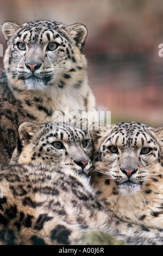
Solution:
{"label": "snow leopard at lower right facing camera, head and chest", "polygon": [[91,183],[106,208],[122,220],[163,228],[163,127],[101,124],[91,136]]}

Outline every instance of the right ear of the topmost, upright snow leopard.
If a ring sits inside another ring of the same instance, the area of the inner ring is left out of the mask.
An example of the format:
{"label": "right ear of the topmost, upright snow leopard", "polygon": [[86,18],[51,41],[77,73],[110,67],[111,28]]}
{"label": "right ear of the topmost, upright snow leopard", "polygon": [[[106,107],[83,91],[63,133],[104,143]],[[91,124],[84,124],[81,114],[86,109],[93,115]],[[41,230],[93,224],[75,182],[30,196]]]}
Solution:
{"label": "right ear of the topmost, upright snow leopard", "polygon": [[87,29],[83,24],[74,24],[65,28],[68,34],[72,36],[72,38],[76,41],[76,45],[82,50],[85,38],[87,36]]}

